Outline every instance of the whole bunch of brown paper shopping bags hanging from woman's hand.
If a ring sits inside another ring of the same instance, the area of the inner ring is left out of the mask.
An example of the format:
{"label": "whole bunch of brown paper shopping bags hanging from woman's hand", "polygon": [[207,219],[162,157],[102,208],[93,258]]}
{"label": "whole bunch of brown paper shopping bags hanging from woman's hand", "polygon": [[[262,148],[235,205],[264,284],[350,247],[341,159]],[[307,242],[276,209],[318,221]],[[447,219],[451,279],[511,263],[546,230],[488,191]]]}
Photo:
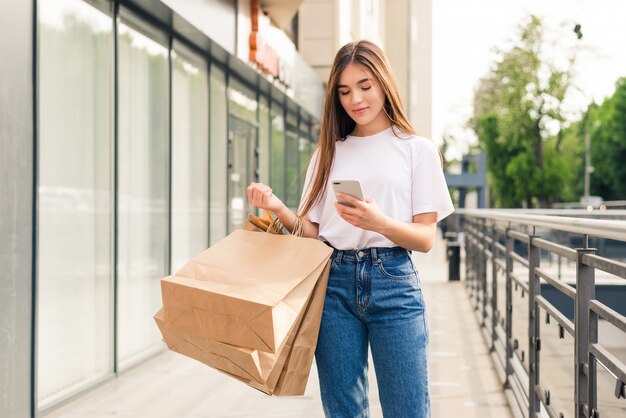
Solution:
{"label": "whole bunch of brown paper shopping bags hanging from woman's hand", "polygon": [[[215,246],[222,244],[220,251],[207,250],[163,279],[164,307],[155,321],[173,351],[265,393],[278,385],[281,394],[302,394],[332,250],[317,240],[251,232],[268,227],[280,229],[251,216],[246,231]],[[246,268],[250,263],[259,268]]]}

